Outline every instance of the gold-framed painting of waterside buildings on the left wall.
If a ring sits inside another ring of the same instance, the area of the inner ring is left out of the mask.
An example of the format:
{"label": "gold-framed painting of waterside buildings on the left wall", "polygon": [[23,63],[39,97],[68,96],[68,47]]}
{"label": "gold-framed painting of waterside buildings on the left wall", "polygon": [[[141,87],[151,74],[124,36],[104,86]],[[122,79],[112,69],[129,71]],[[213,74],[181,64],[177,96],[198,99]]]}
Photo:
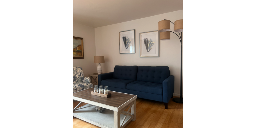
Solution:
{"label": "gold-framed painting of waterside buildings on the left wall", "polygon": [[73,36],[73,59],[83,59],[83,38]]}

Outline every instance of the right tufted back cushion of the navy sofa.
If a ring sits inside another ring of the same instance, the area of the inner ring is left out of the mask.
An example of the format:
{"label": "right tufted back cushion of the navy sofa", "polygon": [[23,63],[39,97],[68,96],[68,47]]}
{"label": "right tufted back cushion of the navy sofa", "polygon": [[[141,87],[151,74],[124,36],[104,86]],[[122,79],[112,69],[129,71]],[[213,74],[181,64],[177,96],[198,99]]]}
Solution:
{"label": "right tufted back cushion of the navy sofa", "polygon": [[138,66],[137,81],[163,83],[169,77],[168,66]]}

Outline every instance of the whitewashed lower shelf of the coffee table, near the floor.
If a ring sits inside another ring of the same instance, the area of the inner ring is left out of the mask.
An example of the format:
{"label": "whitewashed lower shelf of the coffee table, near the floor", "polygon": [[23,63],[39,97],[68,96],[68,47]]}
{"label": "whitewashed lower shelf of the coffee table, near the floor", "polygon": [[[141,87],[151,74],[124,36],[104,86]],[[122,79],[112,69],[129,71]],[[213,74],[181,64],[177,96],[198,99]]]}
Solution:
{"label": "whitewashed lower shelf of the coffee table, near the floor", "polygon": [[[123,111],[122,113],[127,112]],[[95,110],[94,105],[86,104],[80,108],[75,109],[75,111],[73,111],[73,116],[102,128],[114,128],[114,112],[109,109],[99,113]],[[124,117],[125,115],[120,115],[120,123]],[[125,124],[127,121],[130,121],[132,117],[133,116],[127,115],[123,124]]]}

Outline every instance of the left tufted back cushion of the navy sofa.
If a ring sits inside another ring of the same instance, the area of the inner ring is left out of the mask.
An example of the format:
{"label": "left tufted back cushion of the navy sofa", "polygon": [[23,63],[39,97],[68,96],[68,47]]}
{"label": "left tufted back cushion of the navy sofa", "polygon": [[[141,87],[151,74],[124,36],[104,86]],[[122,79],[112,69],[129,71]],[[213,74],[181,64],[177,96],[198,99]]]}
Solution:
{"label": "left tufted back cushion of the navy sofa", "polygon": [[113,78],[136,81],[137,71],[138,71],[138,66],[115,65]]}

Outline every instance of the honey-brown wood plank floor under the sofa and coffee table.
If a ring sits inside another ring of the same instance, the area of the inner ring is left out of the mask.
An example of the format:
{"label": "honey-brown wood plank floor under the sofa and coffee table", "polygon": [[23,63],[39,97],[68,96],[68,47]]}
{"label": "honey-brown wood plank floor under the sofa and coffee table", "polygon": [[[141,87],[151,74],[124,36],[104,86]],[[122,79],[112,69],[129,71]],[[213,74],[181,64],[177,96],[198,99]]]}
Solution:
{"label": "honey-brown wood plank floor under the sofa and coffee table", "polygon": [[[79,102],[74,101],[74,107],[77,104]],[[85,104],[81,103],[78,107]],[[128,111],[128,108],[125,111]],[[73,128],[99,127],[73,116]],[[183,128],[183,104],[175,103],[170,99],[166,110],[163,102],[137,98],[136,120],[129,122],[125,128]]]}

